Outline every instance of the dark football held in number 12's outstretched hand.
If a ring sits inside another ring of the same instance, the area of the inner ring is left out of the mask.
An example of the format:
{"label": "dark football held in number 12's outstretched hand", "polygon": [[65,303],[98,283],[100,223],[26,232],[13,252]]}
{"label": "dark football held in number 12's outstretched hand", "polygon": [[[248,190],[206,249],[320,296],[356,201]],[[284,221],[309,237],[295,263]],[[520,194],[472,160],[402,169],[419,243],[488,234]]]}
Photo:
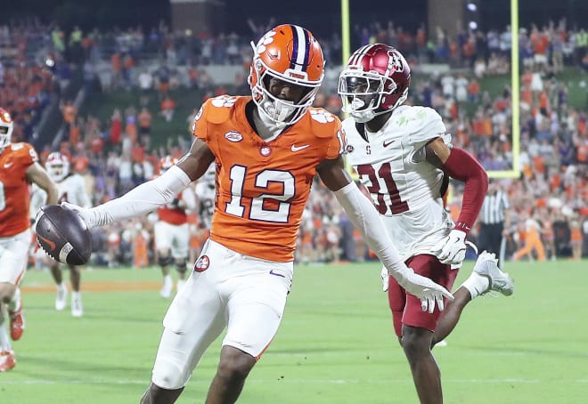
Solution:
{"label": "dark football held in number 12's outstretched hand", "polygon": [[82,265],[92,254],[92,235],[79,215],[61,205],[42,206],[37,214],[37,243],[60,263]]}

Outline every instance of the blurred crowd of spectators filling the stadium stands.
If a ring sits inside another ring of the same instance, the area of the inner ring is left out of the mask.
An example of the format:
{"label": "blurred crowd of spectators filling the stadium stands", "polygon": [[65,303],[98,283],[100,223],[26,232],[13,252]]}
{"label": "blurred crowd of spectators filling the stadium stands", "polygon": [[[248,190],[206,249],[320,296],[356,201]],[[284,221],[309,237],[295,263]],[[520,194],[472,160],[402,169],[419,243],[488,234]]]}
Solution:
{"label": "blurred crowd of spectators filling the stadium stands", "polygon": [[[56,97],[64,133],[57,148],[86,179],[94,204],[116,198],[157,175],[160,158],[179,158],[189,148],[189,133],[177,133],[162,146],[152,147],[157,136],[151,130],[154,121],[179,119],[187,124],[192,118],[176,114],[173,96],[177,88],[197,90],[202,101],[222,93],[249,94],[249,40],[266,28],[253,20],[249,27],[252,33],[207,36],[173,32],[164,23],[148,30],[102,32],[74,27],[67,33],[55,24],[45,26],[34,20],[2,26],[0,105],[16,120],[13,141],[36,141],[35,128],[51,97]],[[319,40],[327,65],[339,65],[339,33],[319,36]],[[510,40],[510,27],[486,32],[464,28],[454,37],[439,29],[435,37],[427,37],[424,26],[408,32],[388,21],[355,27],[352,43],[354,47],[371,42],[393,44],[417,73],[428,63],[448,65],[451,69],[413,78],[407,102],[436,109],[445,119],[447,132],[453,134],[453,143],[477,156],[487,170],[511,170],[510,85],[491,95],[479,83],[483,77],[510,72]],[[508,253],[514,255],[525,245],[527,224],[533,220],[543,254],[535,250],[518,259],[579,259],[588,255],[588,113],[585,105],[568,103],[568,83],[560,74],[564,68],[588,69],[588,32],[568,28],[565,20],[541,28],[520,28],[519,49],[521,173],[517,179],[499,181],[511,206]],[[107,71],[99,68],[104,63]],[[227,88],[218,86],[201,69],[208,64],[238,65],[242,75]],[[79,114],[79,100],[64,97],[61,91],[74,69],[83,72],[86,96],[96,89],[138,89],[140,95],[126,109],[113,109],[106,120]],[[334,80],[327,77],[315,105],[341,116]],[[45,144],[38,151],[43,159],[55,148],[55,144]],[[452,214],[459,212],[461,192],[461,184],[452,182],[446,198]],[[111,267],[153,263],[153,220],[146,217],[95,230],[94,262]],[[191,229],[193,258],[207,235],[198,211],[191,213]],[[318,181],[300,229],[300,263],[373,258],[331,192]]]}

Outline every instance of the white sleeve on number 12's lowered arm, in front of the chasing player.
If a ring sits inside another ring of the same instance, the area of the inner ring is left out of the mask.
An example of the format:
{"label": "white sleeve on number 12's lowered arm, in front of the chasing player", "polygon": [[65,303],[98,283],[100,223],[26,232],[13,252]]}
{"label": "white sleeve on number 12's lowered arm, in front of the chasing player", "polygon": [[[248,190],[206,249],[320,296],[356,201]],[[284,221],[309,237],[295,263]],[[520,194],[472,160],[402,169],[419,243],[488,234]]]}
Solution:
{"label": "white sleeve on number 12's lowered arm, in front of the chasing player", "polygon": [[413,271],[400,258],[396,246],[392,244],[388,232],[380,220],[380,214],[372,205],[372,201],[363,195],[354,182],[336,190],[335,196],[345,209],[349,220],[362,233],[367,245],[372,248],[381,263],[388,269],[388,273],[403,286]]}

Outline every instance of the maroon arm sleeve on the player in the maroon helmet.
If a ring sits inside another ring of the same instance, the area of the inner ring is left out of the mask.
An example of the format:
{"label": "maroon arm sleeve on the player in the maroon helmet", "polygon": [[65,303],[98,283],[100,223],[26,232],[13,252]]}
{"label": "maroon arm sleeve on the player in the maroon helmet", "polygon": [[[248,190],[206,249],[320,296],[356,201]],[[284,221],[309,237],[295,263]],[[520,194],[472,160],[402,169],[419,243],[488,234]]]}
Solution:
{"label": "maroon arm sleeve on the player in the maroon helmet", "polygon": [[470,153],[455,147],[451,150],[449,158],[442,168],[445,174],[465,182],[460,217],[454,229],[464,231],[466,235],[469,235],[486,197],[488,174]]}

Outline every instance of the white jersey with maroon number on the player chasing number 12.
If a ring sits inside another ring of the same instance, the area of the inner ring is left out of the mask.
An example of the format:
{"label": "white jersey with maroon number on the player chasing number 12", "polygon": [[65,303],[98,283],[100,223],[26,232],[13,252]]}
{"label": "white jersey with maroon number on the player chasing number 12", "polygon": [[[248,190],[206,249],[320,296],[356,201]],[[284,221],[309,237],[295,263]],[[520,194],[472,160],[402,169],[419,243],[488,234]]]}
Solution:
{"label": "white jersey with maroon number on the player chasing number 12", "polygon": [[343,128],[348,162],[370,192],[400,256],[405,261],[432,254],[432,247],[453,228],[441,195],[443,171],[425,159],[429,141],[451,141],[439,114],[401,106],[378,133],[363,129],[360,134],[352,118],[343,121]]}

